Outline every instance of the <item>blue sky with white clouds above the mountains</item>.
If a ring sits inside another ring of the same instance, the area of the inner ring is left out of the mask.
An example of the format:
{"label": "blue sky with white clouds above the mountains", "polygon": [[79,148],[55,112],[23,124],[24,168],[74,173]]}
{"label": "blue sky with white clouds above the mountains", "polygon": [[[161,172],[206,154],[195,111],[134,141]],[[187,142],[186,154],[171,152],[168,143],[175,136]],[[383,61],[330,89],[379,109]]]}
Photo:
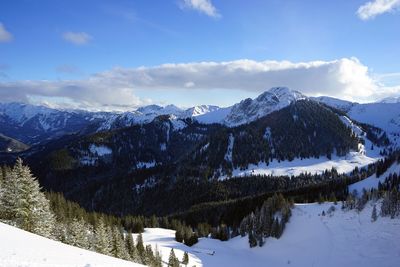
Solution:
{"label": "blue sky with white clouds above the mountains", "polygon": [[400,95],[400,0],[0,0],[0,102],[232,105]]}

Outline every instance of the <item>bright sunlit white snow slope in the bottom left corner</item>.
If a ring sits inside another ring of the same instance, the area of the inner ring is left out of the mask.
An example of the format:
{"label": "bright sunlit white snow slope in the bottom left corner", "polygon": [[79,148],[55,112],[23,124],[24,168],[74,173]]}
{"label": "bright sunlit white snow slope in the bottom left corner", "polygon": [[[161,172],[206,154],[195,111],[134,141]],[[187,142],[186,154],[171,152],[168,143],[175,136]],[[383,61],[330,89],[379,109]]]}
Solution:
{"label": "bright sunlit white snow slope in the bottom left corner", "polygon": [[0,223],[0,267],[143,266],[65,245]]}

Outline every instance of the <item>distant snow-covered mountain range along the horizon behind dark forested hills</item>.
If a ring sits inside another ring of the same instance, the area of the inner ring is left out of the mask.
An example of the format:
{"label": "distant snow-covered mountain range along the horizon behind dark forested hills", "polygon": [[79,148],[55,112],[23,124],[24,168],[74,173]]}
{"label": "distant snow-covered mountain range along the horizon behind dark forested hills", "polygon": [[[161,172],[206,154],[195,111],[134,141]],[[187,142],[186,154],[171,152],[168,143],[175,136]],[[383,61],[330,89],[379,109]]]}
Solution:
{"label": "distant snow-covered mountain range along the horizon behind dark forested hills", "polygon": [[[399,142],[399,97],[377,103],[359,104],[331,97],[310,97],[286,87],[275,87],[255,99],[245,99],[230,107],[200,105],[181,109],[174,105],[149,105],[124,113],[57,110],[22,103],[0,103],[0,133],[28,145],[59,138],[66,134],[88,134],[145,124],[167,115],[179,121],[191,118],[200,123],[234,127],[255,121],[291,103],[311,99],[337,108],[354,120],[385,130],[394,143]],[[178,122],[179,123],[179,122]]]}

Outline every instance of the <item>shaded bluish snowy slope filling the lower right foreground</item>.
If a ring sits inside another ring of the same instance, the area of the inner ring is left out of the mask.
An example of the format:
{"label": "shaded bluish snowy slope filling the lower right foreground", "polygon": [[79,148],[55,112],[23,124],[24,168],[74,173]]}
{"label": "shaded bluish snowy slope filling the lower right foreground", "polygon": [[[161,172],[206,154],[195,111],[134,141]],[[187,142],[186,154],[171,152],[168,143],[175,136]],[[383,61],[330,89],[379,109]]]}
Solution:
{"label": "shaded bluish snowy slope filling the lower right foreground", "polygon": [[332,203],[297,204],[283,236],[263,247],[249,248],[247,237],[222,242],[201,238],[193,247],[174,241],[174,231],[146,229],[145,243],[157,244],[166,260],[171,248],[178,258],[190,256],[188,266],[399,266],[400,220],[379,217],[371,222],[372,205],[361,213],[342,211],[321,216]]}

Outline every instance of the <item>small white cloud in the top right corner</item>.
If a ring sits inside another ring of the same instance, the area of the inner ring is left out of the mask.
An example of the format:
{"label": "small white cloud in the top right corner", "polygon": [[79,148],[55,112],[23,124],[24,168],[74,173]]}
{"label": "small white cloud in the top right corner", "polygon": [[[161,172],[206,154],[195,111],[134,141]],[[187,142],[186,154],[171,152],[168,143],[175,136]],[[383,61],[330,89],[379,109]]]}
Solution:
{"label": "small white cloud in the top right corner", "polygon": [[373,0],[360,6],[357,15],[362,20],[372,19],[378,15],[395,11],[400,7],[400,0]]}

